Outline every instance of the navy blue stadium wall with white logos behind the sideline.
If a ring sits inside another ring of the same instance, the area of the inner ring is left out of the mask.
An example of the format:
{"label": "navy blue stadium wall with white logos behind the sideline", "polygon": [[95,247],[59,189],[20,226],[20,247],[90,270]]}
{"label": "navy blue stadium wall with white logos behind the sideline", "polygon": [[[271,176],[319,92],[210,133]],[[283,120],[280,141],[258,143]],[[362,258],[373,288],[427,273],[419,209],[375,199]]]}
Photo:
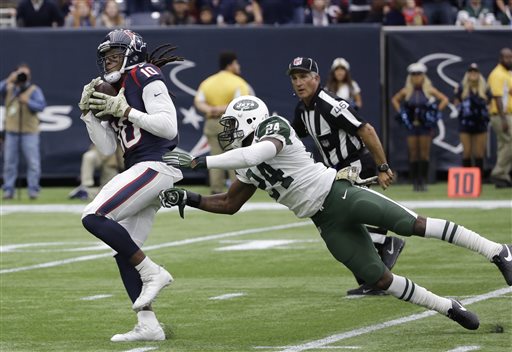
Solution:
{"label": "navy blue stadium wall with white logos behind the sideline", "polygon": [[[347,25],[327,28],[134,28],[148,42],[149,50],[160,44],[178,46],[183,63],[164,67],[178,111],[179,147],[201,153],[203,120],[193,107],[199,83],[218,70],[218,54],[238,54],[243,77],[272,112],[292,118],[297,98],[286,76],[288,63],[296,56],[317,60],[325,82],[335,57],[345,57],[363,91],[362,116],[376,127],[385,141],[393,167],[407,169],[404,133],[392,117],[390,96],[404,83],[405,69],[422,60],[436,87],[452,96],[455,82],[468,63],[478,62],[488,74],[497,62],[499,49],[512,46],[512,31],[436,30],[382,31],[378,25]],[[33,81],[44,91],[48,107],[40,114],[43,178],[76,178],[82,153],[90,141],[80,121],[77,102],[84,84],[98,75],[96,47],[105,30],[3,29],[0,30],[0,77],[6,77],[20,62],[28,63]],[[449,78],[448,83],[446,78]],[[1,102],[0,118],[4,114]],[[445,117],[440,126],[442,143],[433,157],[438,170],[460,162],[456,120]],[[3,124],[2,124],[3,125]],[[443,130],[444,128],[444,130]],[[454,147],[447,147],[454,146]],[[489,155],[489,160],[493,156]],[[3,168],[3,165],[0,165]],[[205,173],[186,173],[189,180]]]}

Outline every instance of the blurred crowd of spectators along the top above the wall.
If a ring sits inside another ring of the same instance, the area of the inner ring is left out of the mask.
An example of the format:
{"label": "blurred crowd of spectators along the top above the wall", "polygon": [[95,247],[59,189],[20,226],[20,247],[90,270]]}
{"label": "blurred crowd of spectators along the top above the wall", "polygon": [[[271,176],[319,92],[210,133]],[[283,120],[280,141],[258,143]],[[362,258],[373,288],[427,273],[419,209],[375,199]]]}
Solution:
{"label": "blurred crowd of spectators along the top above the wall", "polygon": [[3,0],[0,18],[4,27],[381,23],[472,30],[512,25],[512,0]]}

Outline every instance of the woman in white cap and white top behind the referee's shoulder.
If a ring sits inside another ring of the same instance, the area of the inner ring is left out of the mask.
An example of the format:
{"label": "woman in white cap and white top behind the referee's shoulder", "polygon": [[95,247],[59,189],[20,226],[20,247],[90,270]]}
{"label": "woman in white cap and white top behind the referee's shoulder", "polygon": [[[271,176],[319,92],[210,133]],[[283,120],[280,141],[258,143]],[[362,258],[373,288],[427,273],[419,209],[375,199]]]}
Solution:
{"label": "woman in white cap and white top behind the referee's shoulder", "polygon": [[361,88],[356,81],[352,80],[350,64],[344,58],[338,57],[332,62],[326,88],[347,101],[355,110],[363,107]]}

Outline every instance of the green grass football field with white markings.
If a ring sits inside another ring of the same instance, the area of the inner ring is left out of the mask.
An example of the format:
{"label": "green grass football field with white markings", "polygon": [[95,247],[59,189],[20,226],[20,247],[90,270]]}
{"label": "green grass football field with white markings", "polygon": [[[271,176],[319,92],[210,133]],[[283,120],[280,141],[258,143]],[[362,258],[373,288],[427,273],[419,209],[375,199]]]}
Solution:
{"label": "green grass football field with white markings", "polygon": [[[68,201],[69,191],[44,189],[37,201],[23,194],[2,204],[2,352],[512,350],[512,290],[485,258],[444,242],[406,238],[394,269],[465,302],[481,322],[469,331],[390,296],[347,298],[355,280],[330,256],[314,226],[265,207],[231,217],[186,211],[185,220],[177,212],[159,213],[145,250],[176,280],[154,304],[168,339],[112,343],[113,334],[133,327],[135,315],[110,250],[81,226],[76,209],[85,203]],[[419,194],[397,185],[386,194],[447,200],[446,184]],[[261,192],[254,198],[251,204],[272,201]],[[511,199],[510,191],[485,185],[479,200],[501,200],[505,207],[447,204],[415,211],[512,242]],[[67,209],[27,207],[46,204]]]}

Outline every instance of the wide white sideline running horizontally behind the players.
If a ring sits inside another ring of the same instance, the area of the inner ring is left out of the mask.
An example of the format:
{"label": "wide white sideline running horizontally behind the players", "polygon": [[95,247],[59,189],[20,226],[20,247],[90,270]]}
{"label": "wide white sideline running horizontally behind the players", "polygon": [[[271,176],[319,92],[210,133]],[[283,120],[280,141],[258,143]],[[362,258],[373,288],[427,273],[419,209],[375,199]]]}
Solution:
{"label": "wide white sideline running horizontally behind the players", "polygon": [[[476,208],[476,209],[496,209],[512,208],[511,200],[404,200],[399,202],[401,205],[410,209],[430,209],[430,208]],[[83,204],[22,204],[6,205],[0,207],[0,215],[11,213],[75,213],[80,214],[84,210]],[[242,206],[239,212],[254,210],[287,210],[284,205],[270,202],[247,203]],[[161,209],[160,212],[175,212],[176,209]],[[188,211],[198,211],[195,208],[187,208]]]}

